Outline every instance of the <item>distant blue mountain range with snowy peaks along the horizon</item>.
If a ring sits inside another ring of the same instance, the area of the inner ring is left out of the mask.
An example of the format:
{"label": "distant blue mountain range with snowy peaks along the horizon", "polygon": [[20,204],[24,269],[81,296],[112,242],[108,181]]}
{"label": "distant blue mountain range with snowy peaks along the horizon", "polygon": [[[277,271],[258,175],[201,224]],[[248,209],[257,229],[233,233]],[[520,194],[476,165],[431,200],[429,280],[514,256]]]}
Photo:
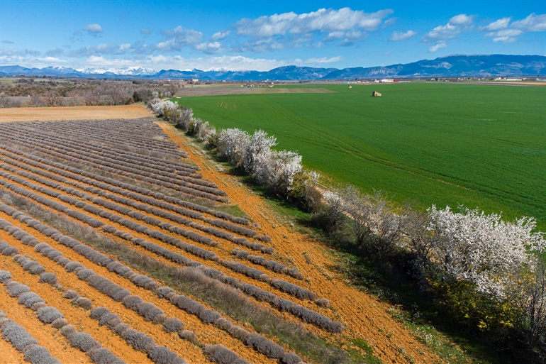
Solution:
{"label": "distant blue mountain range with snowy peaks along the horizon", "polygon": [[542,55],[448,55],[434,60],[377,67],[314,68],[277,67],[269,71],[250,70],[161,70],[149,68],[26,68],[0,66],[0,76],[73,77],[100,79],[199,79],[200,81],[299,81],[330,79],[381,79],[423,77],[544,77],[546,56]]}

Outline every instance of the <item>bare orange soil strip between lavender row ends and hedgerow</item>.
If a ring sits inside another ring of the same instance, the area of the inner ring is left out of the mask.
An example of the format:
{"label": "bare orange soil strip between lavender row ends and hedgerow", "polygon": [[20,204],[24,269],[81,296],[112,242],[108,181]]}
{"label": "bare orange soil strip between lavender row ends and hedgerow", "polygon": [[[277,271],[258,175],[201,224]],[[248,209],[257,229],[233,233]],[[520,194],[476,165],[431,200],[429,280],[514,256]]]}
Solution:
{"label": "bare orange soil strip between lavender row ends and hedgerow", "polygon": [[[313,292],[330,299],[335,314],[329,316],[335,316],[333,319],[338,319],[347,328],[342,335],[365,339],[383,363],[409,363],[405,355],[413,356],[415,363],[442,362],[438,355],[419,343],[410,331],[389,315],[389,305],[346,285],[342,277],[331,269],[335,263],[325,251],[325,246],[289,228],[262,198],[232,175],[219,171],[214,162],[173,126],[165,122],[157,122],[157,125],[190,154],[191,160],[201,167],[206,180],[228,192],[230,201],[260,224],[262,232],[273,238],[277,254],[292,260],[303,275],[310,278]],[[311,264],[306,262],[304,253],[311,257]]]}

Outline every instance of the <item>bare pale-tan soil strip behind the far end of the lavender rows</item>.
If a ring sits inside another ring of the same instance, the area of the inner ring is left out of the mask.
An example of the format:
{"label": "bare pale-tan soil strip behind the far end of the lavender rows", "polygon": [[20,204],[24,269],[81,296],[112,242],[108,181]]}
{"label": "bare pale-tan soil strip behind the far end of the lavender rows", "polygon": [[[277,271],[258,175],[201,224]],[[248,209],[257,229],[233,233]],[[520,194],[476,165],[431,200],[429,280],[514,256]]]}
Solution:
{"label": "bare pale-tan soil strip behind the far end of the lavender rows", "polygon": [[15,107],[0,109],[0,123],[10,121],[100,120],[149,118],[150,111],[139,105]]}

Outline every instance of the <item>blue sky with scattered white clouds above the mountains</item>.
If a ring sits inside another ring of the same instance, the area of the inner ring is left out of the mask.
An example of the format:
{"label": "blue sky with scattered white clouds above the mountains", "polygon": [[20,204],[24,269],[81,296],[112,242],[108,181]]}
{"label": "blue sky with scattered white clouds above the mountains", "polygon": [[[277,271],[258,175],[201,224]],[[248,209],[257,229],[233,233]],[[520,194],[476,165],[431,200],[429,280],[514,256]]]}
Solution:
{"label": "blue sky with scattered white clouds above the mountains", "polygon": [[0,65],[372,67],[546,55],[546,1],[0,0]]}

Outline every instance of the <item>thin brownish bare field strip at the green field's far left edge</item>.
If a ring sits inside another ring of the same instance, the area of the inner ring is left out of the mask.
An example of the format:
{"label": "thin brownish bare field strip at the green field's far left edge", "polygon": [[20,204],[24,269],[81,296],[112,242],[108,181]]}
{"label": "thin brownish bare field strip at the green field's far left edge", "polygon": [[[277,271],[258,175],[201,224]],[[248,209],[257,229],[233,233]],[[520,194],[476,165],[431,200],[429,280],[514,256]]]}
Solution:
{"label": "thin brownish bare field strip at the green field's far left edge", "polygon": [[289,88],[289,87],[218,87],[218,86],[194,86],[179,89],[177,97],[191,96],[218,96],[218,95],[240,95],[240,94],[326,94],[334,92],[322,88]]}

